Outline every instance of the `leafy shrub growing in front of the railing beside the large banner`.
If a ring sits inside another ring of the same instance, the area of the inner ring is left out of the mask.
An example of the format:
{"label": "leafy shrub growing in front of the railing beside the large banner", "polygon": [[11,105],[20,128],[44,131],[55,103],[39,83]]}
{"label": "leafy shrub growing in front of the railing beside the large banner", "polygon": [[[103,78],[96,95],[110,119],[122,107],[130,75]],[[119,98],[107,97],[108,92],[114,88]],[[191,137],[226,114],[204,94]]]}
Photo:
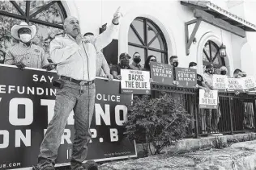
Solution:
{"label": "leafy shrub growing in front of the railing beside the large banner", "polygon": [[[126,137],[137,142],[148,143],[155,148],[151,155],[160,154],[167,146],[174,144],[186,135],[190,114],[184,106],[168,93],[158,98],[134,96],[133,104],[128,106]],[[145,140],[143,140],[145,139]]]}

